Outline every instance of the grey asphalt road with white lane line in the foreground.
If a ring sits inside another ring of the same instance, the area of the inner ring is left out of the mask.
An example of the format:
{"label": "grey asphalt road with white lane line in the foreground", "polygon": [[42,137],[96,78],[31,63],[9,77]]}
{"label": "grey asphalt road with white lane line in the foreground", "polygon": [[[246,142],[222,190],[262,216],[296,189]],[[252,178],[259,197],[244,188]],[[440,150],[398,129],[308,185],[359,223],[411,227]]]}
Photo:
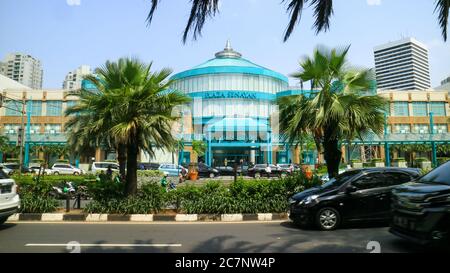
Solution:
{"label": "grey asphalt road with white lane line in the foreground", "polygon": [[391,235],[385,227],[301,230],[289,221],[267,223],[7,223],[0,227],[0,253],[70,252],[154,253],[368,253],[370,241],[381,252],[423,252]]}

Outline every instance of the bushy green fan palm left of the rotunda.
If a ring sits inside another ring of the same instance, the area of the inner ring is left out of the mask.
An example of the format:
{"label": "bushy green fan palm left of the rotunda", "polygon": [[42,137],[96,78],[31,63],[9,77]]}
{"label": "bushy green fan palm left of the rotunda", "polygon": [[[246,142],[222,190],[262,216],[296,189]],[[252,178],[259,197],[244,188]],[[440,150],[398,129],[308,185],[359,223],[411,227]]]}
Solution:
{"label": "bushy green fan palm left of the rotunda", "polygon": [[131,195],[137,191],[139,151],[154,156],[156,149],[172,150],[176,141],[171,128],[178,119],[173,109],[190,101],[170,90],[170,69],[152,73],[151,67],[128,58],[106,62],[96,69],[96,77],[87,78],[97,92],[82,90],[79,103],[66,111],[67,116],[76,114],[68,123],[70,143],[121,148],[119,157],[126,151],[126,191]]}

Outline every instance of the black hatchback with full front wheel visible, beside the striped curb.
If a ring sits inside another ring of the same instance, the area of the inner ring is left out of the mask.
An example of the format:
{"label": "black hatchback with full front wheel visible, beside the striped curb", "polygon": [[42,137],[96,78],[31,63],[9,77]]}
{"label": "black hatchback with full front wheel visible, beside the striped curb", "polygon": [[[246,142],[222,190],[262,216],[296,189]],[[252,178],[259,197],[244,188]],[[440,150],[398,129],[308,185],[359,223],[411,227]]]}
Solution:
{"label": "black hatchback with full front wheel visible, beside the striped curb", "polygon": [[321,230],[357,221],[389,223],[392,189],[419,176],[418,169],[351,170],[322,186],[294,195],[290,199],[289,217],[296,225],[313,224]]}

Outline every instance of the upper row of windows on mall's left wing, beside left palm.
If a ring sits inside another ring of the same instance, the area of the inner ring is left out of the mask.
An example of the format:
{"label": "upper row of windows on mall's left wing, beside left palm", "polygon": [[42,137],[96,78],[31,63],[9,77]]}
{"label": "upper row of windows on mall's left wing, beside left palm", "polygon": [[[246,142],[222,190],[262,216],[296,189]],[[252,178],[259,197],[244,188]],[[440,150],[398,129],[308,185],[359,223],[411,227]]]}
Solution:
{"label": "upper row of windows on mall's left wing, beside left palm", "polygon": [[[33,101],[31,103],[31,116],[49,116],[60,117],[64,115],[65,109],[72,107],[76,104],[76,101],[67,101],[64,103],[60,100],[48,100],[46,102]],[[27,110],[25,107],[25,111]],[[6,101],[5,102],[5,116],[21,116],[22,115],[22,103],[18,101]],[[45,111],[43,111],[45,109]]]}

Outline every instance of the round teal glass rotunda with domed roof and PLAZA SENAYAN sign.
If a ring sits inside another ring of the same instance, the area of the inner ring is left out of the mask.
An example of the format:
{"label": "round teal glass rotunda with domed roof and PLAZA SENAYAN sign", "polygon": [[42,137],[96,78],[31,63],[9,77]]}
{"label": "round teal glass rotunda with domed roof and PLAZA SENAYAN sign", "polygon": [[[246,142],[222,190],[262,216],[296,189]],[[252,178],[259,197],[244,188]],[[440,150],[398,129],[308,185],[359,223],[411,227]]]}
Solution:
{"label": "round teal glass rotunda with domed roof and PLAZA SENAYAN sign", "polygon": [[[172,77],[172,89],[192,98],[179,138],[207,143],[203,160],[211,166],[225,162],[289,163],[290,147],[276,131],[280,96],[311,91],[289,90],[286,76],[254,64],[227,47],[216,58]],[[183,153],[183,162],[185,162]],[[276,162],[275,162],[276,161]]]}

